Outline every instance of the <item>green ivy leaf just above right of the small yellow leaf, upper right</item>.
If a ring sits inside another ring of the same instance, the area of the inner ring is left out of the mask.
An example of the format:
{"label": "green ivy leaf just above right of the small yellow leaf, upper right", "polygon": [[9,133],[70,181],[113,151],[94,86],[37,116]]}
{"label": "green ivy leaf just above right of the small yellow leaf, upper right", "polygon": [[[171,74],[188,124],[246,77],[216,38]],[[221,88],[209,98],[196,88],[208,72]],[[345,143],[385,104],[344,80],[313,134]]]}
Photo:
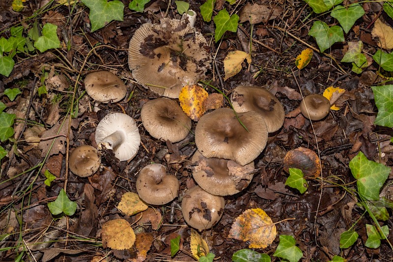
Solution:
{"label": "green ivy leaf just above right of the small yellow leaf, upper right", "polygon": [[309,35],[315,37],[316,43],[321,53],[330,48],[334,43],[343,42],[344,33],[338,26],[329,26],[322,21],[315,21],[312,25]]}

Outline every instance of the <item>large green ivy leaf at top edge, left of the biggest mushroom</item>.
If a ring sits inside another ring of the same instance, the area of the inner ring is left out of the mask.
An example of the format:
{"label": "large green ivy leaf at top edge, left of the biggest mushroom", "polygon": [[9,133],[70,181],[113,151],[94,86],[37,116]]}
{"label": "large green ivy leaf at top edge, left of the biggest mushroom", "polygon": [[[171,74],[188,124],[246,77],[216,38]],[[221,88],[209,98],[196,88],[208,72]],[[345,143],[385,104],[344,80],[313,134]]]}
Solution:
{"label": "large green ivy leaf at top edge, left of the biggest mushroom", "polygon": [[119,0],[111,2],[107,0],[82,0],[82,2],[90,9],[91,32],[105,27],[112,20],[123,21],[124,4]]}

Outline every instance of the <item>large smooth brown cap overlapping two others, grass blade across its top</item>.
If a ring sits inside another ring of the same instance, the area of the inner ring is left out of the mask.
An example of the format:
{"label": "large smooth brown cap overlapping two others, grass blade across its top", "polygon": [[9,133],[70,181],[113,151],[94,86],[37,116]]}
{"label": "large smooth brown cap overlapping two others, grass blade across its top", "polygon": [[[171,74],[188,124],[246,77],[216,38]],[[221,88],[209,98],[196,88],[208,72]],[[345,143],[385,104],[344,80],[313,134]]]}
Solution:
{"label": "large smooth brown cap overlapping two others, grass blade across its top", "polygon": [[268,131],[263,117],[253,111],[239,113],[239,123],[230,108],[202,116],[195,128],[195,143],[204,157],[230,159],[244,166],[265,148]]}

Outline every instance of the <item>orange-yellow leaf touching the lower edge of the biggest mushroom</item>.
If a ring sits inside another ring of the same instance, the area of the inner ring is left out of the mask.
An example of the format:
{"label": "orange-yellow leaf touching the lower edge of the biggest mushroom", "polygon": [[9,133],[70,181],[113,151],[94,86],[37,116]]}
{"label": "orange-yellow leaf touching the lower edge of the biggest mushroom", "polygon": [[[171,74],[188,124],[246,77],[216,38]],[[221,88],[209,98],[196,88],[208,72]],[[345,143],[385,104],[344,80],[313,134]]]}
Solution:
{"label": "orange-yellow leaf touching the lower edge of the biggest mushroom", "polygon": [[205,113],[204,104],[208,95],[205,89],[197,85],[185,86],[179,94],[180,106],[187,116],[190,116],[194,121],[198,121]]}

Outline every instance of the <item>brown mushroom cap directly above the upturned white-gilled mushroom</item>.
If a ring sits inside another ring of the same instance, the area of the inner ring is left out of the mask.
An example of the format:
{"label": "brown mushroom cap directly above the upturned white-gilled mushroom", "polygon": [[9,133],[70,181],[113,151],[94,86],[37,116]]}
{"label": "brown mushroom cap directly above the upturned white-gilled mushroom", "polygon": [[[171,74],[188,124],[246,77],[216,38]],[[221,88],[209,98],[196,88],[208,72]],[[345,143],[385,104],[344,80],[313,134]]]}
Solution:
{"label": "brown mushroom cap directly above the upturned white-gilled mushroom", "polygon": [[94,100],[103,103],[117,102],[124,98],[127,86],[109,71],[97,71],[84,78],[84,88]]}

